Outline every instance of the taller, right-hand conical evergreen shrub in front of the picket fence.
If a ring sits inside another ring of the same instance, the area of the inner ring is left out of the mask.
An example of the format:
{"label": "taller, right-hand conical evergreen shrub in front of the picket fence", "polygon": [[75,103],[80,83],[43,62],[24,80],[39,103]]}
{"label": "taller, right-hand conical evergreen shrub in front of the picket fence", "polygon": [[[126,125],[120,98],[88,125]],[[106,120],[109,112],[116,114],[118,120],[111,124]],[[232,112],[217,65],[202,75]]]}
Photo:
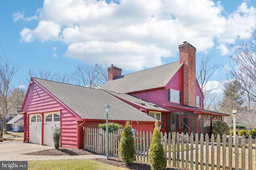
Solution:
{"label": "taller, right-hand conical evergreen shrub in front of the picket fence", "polygon": [[149,152],[149,164],[152,170],[162,170],[166,168],[167,165],[167,160],[164,156],[164,147],[161,144],[161,133],[158,129],[157,120],[152,135],[152,143]]}

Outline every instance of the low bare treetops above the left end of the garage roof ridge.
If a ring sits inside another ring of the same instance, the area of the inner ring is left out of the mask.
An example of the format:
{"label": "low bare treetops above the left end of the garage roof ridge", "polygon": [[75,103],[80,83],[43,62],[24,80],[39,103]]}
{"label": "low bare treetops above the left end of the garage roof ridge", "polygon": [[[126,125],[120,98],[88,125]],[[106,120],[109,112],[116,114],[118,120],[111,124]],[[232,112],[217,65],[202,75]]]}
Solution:
{"label": "low bare treetops above the left end of the garage roof ridge", "polygon": [[38,71],[35,72],[33,69],[29,69],[25,79],[23,80],[24,83],[27,85],[30,82],[31,77],[41,78],[44,80],[51,80],[56,82],[68,83],[70,81],[70,76],[67,74],[61,75],[58,72],[52,72],[51,70],[44,70],[42,68],[38,68]]}

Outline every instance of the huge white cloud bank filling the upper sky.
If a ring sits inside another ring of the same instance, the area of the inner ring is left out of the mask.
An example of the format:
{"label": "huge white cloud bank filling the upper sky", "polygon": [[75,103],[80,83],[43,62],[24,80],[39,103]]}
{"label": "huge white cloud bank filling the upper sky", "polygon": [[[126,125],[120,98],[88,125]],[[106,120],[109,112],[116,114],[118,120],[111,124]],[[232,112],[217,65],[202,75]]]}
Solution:
{"label": "huge white cloud bank filling the upper sky", "polygon": [[[24,28],[21,41],[61,41],[66,56],[84,62],[104,61],[126,69],[162,64],[161,57],[176,56],[188,41],[197,51],[215,45],[222,55],[256,23],[256,9],[243,2],[227,16],[221,2],[212,0],[45,0],[36,12],[34,29]],[[195,10],[196,9],[196,10]],[[217,44],[215,44],[217,43]],[[137,64],[138,63],[138,64]],[[136,68],[136,69],[135,69]]]}

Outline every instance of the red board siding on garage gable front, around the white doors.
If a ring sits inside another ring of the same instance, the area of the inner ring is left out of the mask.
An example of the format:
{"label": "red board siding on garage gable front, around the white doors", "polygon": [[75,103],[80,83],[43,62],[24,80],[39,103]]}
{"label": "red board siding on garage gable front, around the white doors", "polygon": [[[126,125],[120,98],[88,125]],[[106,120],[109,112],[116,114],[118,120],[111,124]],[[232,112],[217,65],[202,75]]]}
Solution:
{"label": "red board siding on garage gable front, around the white doors", "polygon": [[33,86],[33,89],[31,85],[29,87],[22,108],[22,112],[26,112],[26,132],[24,134],[24,140],[29,141],[29,114],[49,113],[50,111],[60,110],[60,147],[76,148],[78,128],[76,115],[36,82],[34,82]]}

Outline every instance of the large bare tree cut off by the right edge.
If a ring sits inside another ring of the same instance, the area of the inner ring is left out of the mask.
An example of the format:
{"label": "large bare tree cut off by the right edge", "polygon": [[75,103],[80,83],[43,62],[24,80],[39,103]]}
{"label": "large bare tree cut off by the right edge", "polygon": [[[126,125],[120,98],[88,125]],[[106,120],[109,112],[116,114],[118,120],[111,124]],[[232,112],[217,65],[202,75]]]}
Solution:
{"label": "large bare tree cut off by the right edge", "polygon": [[250,38],[235,48],[235,54],[230,56],[230,68],[226,70],[228,79],[240,82],[240,91],[250,110],[251,102],[256,101],[256,26],[246,32],[250,33]]}

